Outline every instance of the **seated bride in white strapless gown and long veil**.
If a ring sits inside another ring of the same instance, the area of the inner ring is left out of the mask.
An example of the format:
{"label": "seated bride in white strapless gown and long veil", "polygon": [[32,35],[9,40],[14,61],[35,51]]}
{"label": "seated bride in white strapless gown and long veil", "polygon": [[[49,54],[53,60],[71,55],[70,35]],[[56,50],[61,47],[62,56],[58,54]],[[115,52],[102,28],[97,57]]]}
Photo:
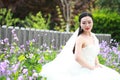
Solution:
{"label": "seated bride in white strapless gown and long veil", "polygon": [[99,63],[99,41],[94,33],[93,17],[88,12],[79,16],[80,27],[63,50],[40,72],[47,80],[120,80],[120,74]]}

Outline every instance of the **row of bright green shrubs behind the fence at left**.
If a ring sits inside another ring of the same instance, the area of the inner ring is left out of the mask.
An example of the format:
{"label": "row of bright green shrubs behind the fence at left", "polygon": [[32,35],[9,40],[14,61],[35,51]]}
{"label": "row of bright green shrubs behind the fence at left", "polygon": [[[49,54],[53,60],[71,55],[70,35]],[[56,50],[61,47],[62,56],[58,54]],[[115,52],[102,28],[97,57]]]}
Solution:
{"label": "row of bright green shrubs behind the fence at left", "polygon": [[29,13],[25,17],[25,19],[15,18],[13,17],[14,14],[12,13],[11,9],[1,8],[0,9],[0,25],[7,25],[7,26],[18,26],[18,27],[29,27],[29,28],[36,28],[36,29],[47,29],[49,30],[49,23],[50,23],[50,15],[45,19],[42,16],[41,12],[36,13],[33,15]]}

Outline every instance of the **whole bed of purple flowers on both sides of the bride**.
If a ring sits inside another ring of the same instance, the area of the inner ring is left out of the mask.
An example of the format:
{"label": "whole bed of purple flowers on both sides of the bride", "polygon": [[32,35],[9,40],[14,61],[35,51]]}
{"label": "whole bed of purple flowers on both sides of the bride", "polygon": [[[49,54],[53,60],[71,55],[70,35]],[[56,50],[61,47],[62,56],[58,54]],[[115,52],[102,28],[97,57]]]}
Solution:
{"label": "whole bed of purple flowers on both sides of the bride", "polygon": [[[12,36],[14,37],[12,44],[9,44],[8,38],[0,40],[0,45],[3,46],[0,51],[0,80],[41,80],[42,76],[39,76],[38,73],[41,71],[42,65],[53,60],[58,51],[54,51],[52,48],[41,51],[43,46],[41,48],[35,47],[35,39],[26,41],[26,47],[17,45],[19,39],[14,29]],[[120,72],[118,43],[108,45],[103,41],[100,48],[100,63]]]}

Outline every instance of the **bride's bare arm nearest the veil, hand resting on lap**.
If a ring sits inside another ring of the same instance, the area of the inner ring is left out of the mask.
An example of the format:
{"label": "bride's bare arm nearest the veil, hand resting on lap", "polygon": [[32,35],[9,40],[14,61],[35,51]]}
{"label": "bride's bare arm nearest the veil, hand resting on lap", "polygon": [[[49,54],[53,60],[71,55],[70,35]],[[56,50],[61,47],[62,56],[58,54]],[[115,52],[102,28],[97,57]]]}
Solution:
{"label": "bride's bare arm nearest the veil, hand resting on lap", "polygon": [[75,60],[83,67],[93,70],[95,69],[95,66],[92,66],[88,62],[86,62],[86,60],[81,55],[81,49],[83,43],[84,40],[79,36],[78,39],[76,40],[76,45],[75,45]]}

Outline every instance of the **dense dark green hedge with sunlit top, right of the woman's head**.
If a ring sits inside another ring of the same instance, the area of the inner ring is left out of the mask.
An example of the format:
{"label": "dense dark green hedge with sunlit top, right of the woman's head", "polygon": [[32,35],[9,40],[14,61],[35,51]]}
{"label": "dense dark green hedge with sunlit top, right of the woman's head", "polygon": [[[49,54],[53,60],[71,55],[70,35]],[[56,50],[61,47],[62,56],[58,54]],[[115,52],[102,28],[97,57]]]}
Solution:
{"label": "dense dark green hedge with sunlit top, right of the woman's head", "polygon": [[108,10],[95,10],[92,14],[94,17],[93,32],[108,33],[113,39],[120,41],[120,15],[118,13]]}

